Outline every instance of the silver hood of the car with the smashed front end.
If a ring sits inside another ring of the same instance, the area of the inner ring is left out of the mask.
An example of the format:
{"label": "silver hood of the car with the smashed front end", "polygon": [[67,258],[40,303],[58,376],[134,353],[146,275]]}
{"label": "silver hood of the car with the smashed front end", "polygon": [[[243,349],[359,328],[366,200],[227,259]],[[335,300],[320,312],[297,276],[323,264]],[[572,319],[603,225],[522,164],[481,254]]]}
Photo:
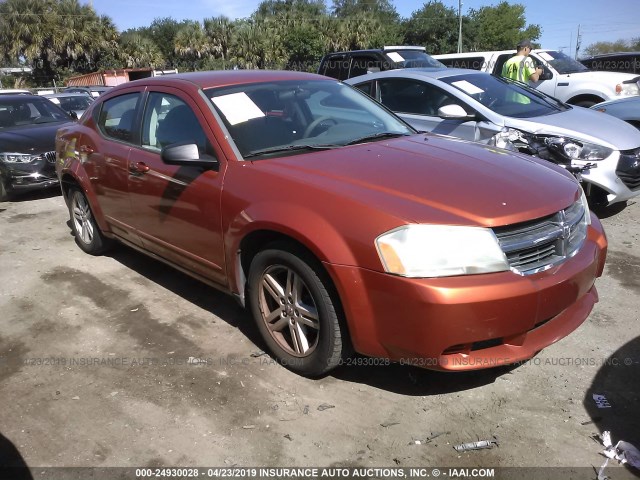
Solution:
{"label": "silver hood of the car with the smashed front end", "polygon": [[504,117],[505,125],[539,135],[567,136],[614,150],[640,147],[640,130],[611,115],[588,108],[527,119]]}

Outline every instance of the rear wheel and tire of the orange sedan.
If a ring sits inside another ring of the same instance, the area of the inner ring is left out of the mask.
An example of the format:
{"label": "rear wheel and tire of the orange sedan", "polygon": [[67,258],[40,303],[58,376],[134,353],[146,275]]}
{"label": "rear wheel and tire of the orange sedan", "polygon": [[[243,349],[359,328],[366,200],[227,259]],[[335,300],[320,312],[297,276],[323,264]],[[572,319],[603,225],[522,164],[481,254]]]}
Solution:
{"label": "rear wheel and tire of the orange sedan", "polygon": [[110,247],[93,217],[86,195],[77,187],[69,190],[69,217],[76,243],[86,253],[100,255]]}

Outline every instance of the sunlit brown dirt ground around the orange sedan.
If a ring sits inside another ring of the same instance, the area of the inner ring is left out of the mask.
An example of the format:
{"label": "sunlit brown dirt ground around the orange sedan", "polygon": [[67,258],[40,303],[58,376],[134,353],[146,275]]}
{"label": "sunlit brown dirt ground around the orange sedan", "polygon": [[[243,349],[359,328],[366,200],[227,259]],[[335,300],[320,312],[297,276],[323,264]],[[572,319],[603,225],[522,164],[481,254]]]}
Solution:
{"label": "sunlit brown dirt ground around the orange sedan", "polygon": [[[82,253],[57,192],[2,203],[0,455],[13,445],[30,467],[546,466],[596,478],[593,436],[640,447],[640,202],[600,213],[600,302],[532,361],[469,374],[361,361],[309,380],[263,354],[231,297],[125,247]],[[611,478],[636,478],[613,463]]]}

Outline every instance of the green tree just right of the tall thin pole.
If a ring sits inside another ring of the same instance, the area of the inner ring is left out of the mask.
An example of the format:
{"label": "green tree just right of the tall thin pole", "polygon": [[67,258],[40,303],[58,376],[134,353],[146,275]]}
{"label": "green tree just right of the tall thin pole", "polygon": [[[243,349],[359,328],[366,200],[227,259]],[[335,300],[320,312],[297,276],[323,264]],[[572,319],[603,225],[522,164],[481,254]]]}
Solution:
{"label": "green tree just right of the tall thin pole", "polygon": [[508,50],[516,48],[523,38],[532,42],[540,38],[540,26],[529,25],[525,18],[525,7],[500,2],[495,7],[481,7],[469,12],[470,28],[474,33],[470,50]]}

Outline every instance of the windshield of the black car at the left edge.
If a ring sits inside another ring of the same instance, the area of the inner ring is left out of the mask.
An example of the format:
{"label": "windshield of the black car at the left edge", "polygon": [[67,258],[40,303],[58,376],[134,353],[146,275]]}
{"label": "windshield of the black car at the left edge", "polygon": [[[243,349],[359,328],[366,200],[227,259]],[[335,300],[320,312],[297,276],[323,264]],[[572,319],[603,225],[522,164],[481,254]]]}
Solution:
{"label": "windshield of the black car at the left edge", "polygon": [[69,121],[69,116],[45,98],[33,95],[12,99],[0,97],[2,129],[62,121]]}

